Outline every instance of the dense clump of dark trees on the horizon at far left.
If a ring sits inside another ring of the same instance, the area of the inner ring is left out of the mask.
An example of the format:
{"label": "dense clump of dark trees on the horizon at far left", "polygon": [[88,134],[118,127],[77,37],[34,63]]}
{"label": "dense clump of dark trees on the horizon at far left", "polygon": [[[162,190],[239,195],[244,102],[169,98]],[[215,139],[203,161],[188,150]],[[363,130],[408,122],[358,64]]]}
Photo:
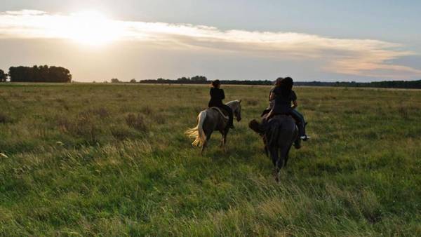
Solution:
{"label": "dense clump of dark trees on the horizon at far left", "polygon": [[64,67],[48,67],[34,66],[34,67],[10,67],[8,74],[5,74],[0,69],[0,82],[6,82],[7,79],[11,82],[71,82],[72,74],[69,69]]}

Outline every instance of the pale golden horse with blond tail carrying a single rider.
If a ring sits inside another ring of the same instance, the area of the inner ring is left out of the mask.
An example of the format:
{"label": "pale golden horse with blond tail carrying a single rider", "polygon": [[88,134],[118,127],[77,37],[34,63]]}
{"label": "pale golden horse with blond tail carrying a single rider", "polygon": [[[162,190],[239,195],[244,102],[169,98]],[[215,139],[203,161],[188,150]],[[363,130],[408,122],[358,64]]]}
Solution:
{"label": "pale golden horse with blond tail carrying a single rider", "polygon": [[[241,121],[241,100],[234,100],[228,102],[227,105],[232,109],[237,121]],[[222,134],[220,146],[225,149],[227,143],[227,134],[229,128],[227,127],[228,118],[219,108],[213,107],[203,110],[197,116],[197,126],[186,131],[186,135],[194,138],[192,143],[196,147],[202,147],[201,154],[203,154],[206,145],[212,135],[213,131],[218,130]]]}

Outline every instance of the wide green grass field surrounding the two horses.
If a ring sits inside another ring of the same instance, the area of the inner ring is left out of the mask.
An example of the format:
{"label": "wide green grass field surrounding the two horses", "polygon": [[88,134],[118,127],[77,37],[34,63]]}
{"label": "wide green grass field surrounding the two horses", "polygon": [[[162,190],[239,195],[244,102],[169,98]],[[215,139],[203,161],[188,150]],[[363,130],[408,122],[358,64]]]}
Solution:
{"label": "wide green grass field surrounding the two horses", "polygon": [[421,236],[421,91],[295,88],[281,182],[243,100],[227,152],[184,135],[208,86],[0,84],[0,236]]}

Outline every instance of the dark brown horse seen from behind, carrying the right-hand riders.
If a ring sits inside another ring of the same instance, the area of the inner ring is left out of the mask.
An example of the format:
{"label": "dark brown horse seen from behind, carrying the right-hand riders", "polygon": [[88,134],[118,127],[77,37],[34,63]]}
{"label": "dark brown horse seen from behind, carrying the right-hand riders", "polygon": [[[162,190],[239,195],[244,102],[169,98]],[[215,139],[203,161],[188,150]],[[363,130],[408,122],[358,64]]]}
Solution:
{"label": "dark brown horse seen from behind, carrying the right-hand riders", "polygon": [[[256,130],[257,121],[250,121],[251,129]],[[288,163],[291,146],[298,138],[298,128],[295,121],[288,115],[276,115],[267,122],[267,129],[263,135],[265,151],[275,167],[276,181],[279,181],[279,171]]]}

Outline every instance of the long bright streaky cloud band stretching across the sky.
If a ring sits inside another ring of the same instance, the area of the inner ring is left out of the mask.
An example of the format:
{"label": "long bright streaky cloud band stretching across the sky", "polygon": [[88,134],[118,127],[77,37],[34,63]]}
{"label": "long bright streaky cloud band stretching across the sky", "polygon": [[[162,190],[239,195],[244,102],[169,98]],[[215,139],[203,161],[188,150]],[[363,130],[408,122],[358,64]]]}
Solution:
{"label": "long bright streaky cloud band stretching across the sky", "polygon": [[377,78],[413,78],[421,70],[391,62],[415,53],[399,43],[334,39],[295,32],[222,31],[201,25],[109,20],[96,13],[51,14],[23,10],[0,13],[0,38],[143,41],[168,49],[192,48],[253,57],[323,62],[321,70]]}

